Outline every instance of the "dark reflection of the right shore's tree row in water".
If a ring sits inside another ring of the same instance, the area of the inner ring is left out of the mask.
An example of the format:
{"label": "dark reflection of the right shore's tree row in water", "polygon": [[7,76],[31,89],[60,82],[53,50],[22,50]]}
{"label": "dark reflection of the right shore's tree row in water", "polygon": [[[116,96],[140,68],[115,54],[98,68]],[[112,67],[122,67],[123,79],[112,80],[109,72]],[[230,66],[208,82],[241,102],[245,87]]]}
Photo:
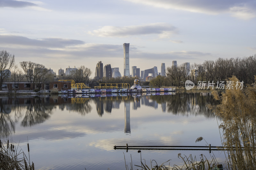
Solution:
{"label": "dark reflection of the right shore's tree row in water", "polygon": [[214,100],[210,92],[187,93],[176,92],[175,95],[150,96],[151,100],[157,103],[166,104],[167,112],[181,115],[204,115],[206,117],[214,117],[214,113],[210,111],[207,104],[218,104]]}

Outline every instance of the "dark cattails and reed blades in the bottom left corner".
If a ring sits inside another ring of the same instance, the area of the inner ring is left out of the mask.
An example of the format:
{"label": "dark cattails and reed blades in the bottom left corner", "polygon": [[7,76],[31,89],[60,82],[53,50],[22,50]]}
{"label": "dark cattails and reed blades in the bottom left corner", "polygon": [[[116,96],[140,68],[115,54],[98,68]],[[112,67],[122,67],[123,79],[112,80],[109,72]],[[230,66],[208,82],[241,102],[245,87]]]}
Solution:
{"label": "dark cattails and reed blades in the bottom left corner", "polygon": [[[29,144],[28,144],[29,155]],[[34,163],[30,164],[19,144],[15,145],[9,140],[3,143],[0,140],[0,170],[35,170]]]}

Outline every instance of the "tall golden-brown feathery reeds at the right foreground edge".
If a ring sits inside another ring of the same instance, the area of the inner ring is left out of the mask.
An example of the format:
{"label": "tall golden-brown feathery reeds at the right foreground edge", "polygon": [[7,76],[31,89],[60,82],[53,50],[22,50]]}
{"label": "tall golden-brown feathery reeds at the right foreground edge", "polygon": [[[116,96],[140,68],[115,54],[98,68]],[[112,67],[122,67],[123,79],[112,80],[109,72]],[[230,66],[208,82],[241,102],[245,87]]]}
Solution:
{"label": "tall golden-brown feathery reeds at the right foreground edge", "polygon": [[[228,81],[239,82],[234,76]],[[219,128],[223,130],[221,140],[226,148],[227,168],[253,170],[256,168],[256,88],[255,84],[244,89],[236,89],[235,85],[221,95],[213,91],[212,95],[221,103],[208,107],[223,120]]]}

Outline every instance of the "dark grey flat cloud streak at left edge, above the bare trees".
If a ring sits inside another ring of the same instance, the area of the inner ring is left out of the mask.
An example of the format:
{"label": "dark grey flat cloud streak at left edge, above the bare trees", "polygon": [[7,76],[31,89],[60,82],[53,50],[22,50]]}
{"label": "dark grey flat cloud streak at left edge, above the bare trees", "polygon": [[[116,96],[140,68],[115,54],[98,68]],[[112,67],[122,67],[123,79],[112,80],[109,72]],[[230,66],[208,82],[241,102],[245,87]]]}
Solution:
{"label": "dark grey flat cloud streak at left edge, above the bare trees", "polygon": [[31,46],[46,48],[63,48],[66,46],[84,44],[84,41],[61,38],[46,38],[36,40],[16,35],[0,35],[0,44],[15,44],[20,46],[29,46],[30,48]]}

